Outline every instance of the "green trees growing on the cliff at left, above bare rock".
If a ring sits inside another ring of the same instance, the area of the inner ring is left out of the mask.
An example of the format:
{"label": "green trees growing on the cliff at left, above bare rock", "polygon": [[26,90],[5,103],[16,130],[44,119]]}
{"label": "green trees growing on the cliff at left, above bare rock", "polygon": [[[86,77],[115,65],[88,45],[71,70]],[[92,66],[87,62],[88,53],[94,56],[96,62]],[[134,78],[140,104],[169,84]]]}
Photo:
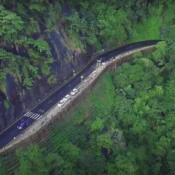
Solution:
{"label": "green trees growing on the cliff at left, above bare rock", "polygon": [[[30,36],[39,32],[39,25],[34,16],[26,15],[26,2],[23,5],[17,3],[17,11],[7,10],[6,3],[4,1],[4,6],[0,6],[0,37],[3,48],[6,48],[0,49],[0,80],[3,82],[7,73],[10,73],[22,86],[29,88],[33,85],[32,80],[39,77],[39,69],[42,69],[44,75],[50,73],[50,63],[53,59],[48,43],[42,38],[33,39]],[[47,2],[37,1],[28,7],[43,12],[44,4]],[[23,56],[20,56],[21,54]],[[1,86],[1,90],[5,92],[3,88]]]}

